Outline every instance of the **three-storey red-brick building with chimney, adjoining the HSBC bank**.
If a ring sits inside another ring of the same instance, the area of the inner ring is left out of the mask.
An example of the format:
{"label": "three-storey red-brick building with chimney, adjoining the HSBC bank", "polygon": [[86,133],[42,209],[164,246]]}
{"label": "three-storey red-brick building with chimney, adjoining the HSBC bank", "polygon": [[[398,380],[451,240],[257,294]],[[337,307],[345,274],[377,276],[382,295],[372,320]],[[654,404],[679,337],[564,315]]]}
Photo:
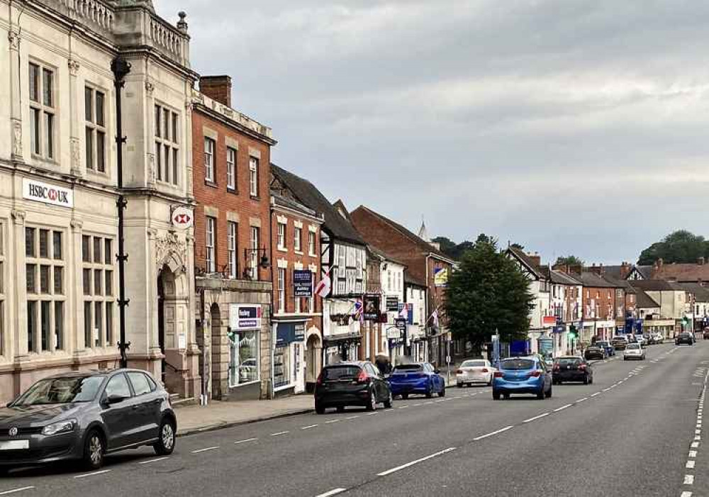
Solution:
{"label": "three-storey red-brick building with chimney, adjoining the HSBC bank", "polygon": [[231,79],[192,99],[198,343],[215,398],[273,394],[270,128],[231,108]]}

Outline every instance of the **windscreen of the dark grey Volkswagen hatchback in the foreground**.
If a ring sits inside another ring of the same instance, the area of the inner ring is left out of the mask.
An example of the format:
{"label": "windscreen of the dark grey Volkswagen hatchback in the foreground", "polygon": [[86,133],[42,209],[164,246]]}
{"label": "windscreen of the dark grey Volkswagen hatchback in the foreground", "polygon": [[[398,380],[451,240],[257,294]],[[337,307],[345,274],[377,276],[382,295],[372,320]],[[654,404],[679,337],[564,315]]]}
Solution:
{"label": "windscreen of the dark grey Volkswagen hatchback in the foreground", "polygon": [[30,386],[14,406],[40,406],[43,404],[66,404],[90,402],[96,398],[104,376],[69,376],[43,379]]}

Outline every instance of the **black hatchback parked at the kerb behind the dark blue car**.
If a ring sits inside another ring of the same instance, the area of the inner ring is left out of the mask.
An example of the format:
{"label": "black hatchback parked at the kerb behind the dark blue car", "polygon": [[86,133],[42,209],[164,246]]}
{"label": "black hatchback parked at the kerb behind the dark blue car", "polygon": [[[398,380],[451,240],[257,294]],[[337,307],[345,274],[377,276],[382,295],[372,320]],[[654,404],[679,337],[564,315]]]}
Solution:
{"label": "black hatchback parked at the kerb behind the dark blue car", "polygon": [[391,389],[379,369],[371,362],[342,362],[325,366],[315,386],[315,411],[329,407],[338,412],[346,406],[364,406],[374,411],[379,403],[391,408]]}

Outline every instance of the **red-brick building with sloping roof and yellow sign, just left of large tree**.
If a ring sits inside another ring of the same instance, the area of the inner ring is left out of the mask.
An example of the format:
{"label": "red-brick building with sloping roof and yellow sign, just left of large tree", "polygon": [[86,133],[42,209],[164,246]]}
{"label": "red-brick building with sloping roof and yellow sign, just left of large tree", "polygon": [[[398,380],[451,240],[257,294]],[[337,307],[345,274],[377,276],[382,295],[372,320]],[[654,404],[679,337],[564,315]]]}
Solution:
{"label": "red-brick building with sloping roof and yellow sign, just left of large tree", "polygon": [[381,216],[371,209],[359,206],[350,218],[362,238],[375,247],[406,264],[407,272],[415,279],[425,281],[428,287],[427,316],[437,311],[439,326],[432,328],[432,320],[424,323],[430,328],[430,354],[432,362],[445,364],[448,326],[443,312],[447,277],[454,261],[430,242],[423,240],[402,225]]}

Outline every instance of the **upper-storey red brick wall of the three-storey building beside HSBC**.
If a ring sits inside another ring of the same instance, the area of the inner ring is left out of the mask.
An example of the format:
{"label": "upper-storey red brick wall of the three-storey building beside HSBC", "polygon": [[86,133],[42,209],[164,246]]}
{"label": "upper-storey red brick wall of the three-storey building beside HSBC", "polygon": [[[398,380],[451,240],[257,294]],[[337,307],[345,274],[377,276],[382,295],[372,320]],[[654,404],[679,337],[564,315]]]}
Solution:
{"label": "upper-storey red brick wall of the three-storey building beside HSBC", "polygon": [[[204,132],[203,126],[218,132],[216,140],[215,179],[216,184],[206,184],[204,180]],[[236,163],[236,191],[226,188],[226,143],[228,136],[238,141],[239,150]],[[249,194],[249,147],[259,150],[259,198]],[[269,234],[269,181],[271,177],[270,146],[267,143],[251,138],[245,133],[228,127],[196,109],[192,113],[192,177],[194,179],[195,208],[195,265],[198,269],[206,267],[206,219],[205,206],[217,208],[216,233],[216,267],[220,271],[228,263],[227,242],[227,211],[239,215],[237,259],[240,276],[245,268],[244,249],[250,248],[251,226],[249,219],[258,218],[261,221],[260,245],[266,247],[266,255],[271,258]],[[260,258],[260,254],[259,254]],[[269,269],[259,269],[259,279],[269,280]]]}

